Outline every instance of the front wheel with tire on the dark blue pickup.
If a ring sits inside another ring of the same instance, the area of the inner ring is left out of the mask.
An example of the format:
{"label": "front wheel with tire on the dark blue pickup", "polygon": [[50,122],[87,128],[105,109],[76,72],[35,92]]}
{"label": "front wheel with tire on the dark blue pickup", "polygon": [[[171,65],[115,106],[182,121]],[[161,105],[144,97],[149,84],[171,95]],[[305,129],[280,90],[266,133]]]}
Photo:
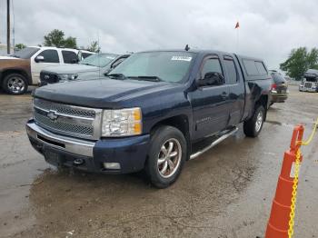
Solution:
{"label": "front wheel with tire on the dark blue pickup", "polygon": [[172,126],[158,127],[152,134],[145,171],[157,188],[176,181],[186,158],[184,134]]}

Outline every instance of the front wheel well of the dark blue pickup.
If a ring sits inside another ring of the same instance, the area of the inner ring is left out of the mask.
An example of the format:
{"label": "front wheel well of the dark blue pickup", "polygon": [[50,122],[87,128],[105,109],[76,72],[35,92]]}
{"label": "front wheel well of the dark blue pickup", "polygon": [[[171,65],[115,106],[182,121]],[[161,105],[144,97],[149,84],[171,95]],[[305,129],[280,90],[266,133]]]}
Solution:
{"label": "front wheel well of the dark blue pickup", "polygon": [[184,138],[187,144],[187,148],[188,148],[188,158],[189,158],[189,154],[191,154],[191,143],[190,143],[190,133],[189,133],[189,120],[188,117],[184,114],[181,115],[176,115],[173,117],[169,117],[167,119],[164,119],[163,121],[158,122],[157,124],[154,124],[154,126],[151,129],[151,133],[154,133],[154,130],[156,130],[158,127],[162,126],[162,125],[170,125],[170,126],[174,126],[175,128],[177,128],[178,130],[180,130],[182,132],[182,134],[184,134]]}

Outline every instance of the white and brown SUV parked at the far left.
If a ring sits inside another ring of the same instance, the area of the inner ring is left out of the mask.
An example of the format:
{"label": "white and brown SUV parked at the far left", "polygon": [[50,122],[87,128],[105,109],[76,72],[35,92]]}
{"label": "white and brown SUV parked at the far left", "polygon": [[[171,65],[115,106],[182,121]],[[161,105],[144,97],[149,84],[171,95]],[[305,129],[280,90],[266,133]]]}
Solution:
{"label": "white and brown SUV parked at the far left", "polygon": [[0,56],[0,85],[8,94],[24,94],[28,85],[40,83],[45,67],[78,62],[78,50],[56,47],[26,47],[14,55]]}

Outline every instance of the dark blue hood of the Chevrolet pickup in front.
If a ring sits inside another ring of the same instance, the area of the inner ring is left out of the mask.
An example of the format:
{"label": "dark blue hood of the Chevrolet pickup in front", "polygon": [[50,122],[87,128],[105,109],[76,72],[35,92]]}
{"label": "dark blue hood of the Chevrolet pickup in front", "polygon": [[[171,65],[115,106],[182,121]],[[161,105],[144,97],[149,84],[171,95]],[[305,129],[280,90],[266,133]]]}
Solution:
{"label": "dark blue hood of the Chevrolet pickup in front", "polygon": [[138,80],[114,80],[97,78],[49,84],[37,88],[34,96],[63,104],[94,108],[121,108],[124,105],[137,106],[141,97],[163,91],[177,90],[181,84],[149,82]]}

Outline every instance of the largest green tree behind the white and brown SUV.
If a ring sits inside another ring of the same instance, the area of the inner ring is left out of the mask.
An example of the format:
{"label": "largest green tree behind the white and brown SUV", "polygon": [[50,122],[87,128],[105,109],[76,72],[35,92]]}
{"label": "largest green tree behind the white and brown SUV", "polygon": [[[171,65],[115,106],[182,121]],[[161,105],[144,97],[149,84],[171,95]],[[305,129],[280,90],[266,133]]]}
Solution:
{"label": "largest green tree behind the white and brown SUV", "polygon": [[65,33],[61,30],[54,29],[45,35],[45,46],[76,48],[76,38],[69,36],[65,39]]}

